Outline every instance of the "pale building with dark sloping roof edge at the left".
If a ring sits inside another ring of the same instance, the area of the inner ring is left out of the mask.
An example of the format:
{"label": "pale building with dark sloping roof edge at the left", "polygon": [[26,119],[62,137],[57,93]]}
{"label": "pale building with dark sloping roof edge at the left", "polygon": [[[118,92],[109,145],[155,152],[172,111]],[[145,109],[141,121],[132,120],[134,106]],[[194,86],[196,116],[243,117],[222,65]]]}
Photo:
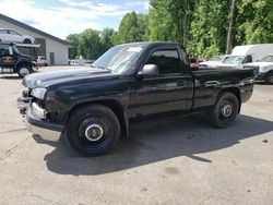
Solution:
{"label": "pale building with dark sloping roof edge at the left", "polygon": [[[0,13],[0,28],[10,28],[17,31],[22,34],[33,36],[36,44],[40,47],[37,49],[37,56],[45,56],[48,63],[54,64],[68,64],[69,59],[69,43],[57,38],[50,34],[41,32],[22,22],[8,17]],[[24,50],[27,52],[27,49]],[[24,52],[22,51],[22,52]],[[31,55],[31,53],[26,53]]]}

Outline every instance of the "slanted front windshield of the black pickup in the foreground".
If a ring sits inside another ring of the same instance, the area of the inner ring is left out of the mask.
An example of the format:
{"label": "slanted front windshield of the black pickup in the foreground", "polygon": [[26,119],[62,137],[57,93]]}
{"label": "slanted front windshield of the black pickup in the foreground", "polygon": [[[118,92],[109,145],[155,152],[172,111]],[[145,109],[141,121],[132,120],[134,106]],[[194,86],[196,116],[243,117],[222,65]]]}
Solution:
{"label": "slanted front windshield of the black pickup in the foreground", "polygon": [[127,73],[134,67],[143,51],[143,46],[116,46],[99,57],[92,67],[110,70],[112,73]]}

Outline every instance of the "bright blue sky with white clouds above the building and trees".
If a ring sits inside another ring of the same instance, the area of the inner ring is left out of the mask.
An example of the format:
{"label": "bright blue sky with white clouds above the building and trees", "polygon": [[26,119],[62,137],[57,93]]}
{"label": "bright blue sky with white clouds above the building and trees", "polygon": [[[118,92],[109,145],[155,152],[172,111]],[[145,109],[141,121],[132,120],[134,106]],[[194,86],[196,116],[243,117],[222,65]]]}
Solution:
{"label": "bright blue sky with white clouds above the building and trees", "polygon": [[149,0],[1,0],[0,13],[66,39],[86,28],[118,29],[131,11],[147,13]]}

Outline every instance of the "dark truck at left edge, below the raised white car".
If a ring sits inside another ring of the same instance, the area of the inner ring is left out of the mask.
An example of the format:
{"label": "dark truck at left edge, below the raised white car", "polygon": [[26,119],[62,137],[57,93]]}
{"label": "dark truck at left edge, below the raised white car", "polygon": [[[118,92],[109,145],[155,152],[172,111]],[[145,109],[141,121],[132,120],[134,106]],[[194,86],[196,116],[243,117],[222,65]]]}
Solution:
{"label": "dark truck at left edge, below the raised white car", "polygon": [[0,74],[17,73],[24,77],[36,70],[37,61],[34,57],[22,55],[15,44],[0,41]]}

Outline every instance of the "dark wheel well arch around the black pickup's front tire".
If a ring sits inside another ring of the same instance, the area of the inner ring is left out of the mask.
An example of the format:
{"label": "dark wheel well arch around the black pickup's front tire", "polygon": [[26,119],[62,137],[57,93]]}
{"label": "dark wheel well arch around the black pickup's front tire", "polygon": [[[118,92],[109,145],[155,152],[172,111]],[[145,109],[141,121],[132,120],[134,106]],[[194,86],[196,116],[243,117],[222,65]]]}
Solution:
{"label": "dark wheel well arch around the black pickup's front tire", "polygon": [[[108,107],[109,109],[111,109],[111,111],[114,111],[114,113],[117,116],[118,120],[119,120],[119,123],[120,123],[120,126],[121,126],[121,132],[122,132],[122,135],[124,134],[124,136],[128,136],[128,121],[127,121],[127,117],[126,117],[126,113],[124,113],[124,110],[121,106],[120,102],[118,102],[117,100],[115,99],[107,99],[107,100],[95,100],[95,101],[90,101],[90,102],[83,102],[83,104],[79,104],[76,105],[75,107],[73,107],[69,114],[68,114],[68,118],[69,116],[76,109],[79,109],[80,107],[83,107],[83,106],[88,106],[88,105],[103,105],[105,107]],[[68,119],[67,118],[67,119]]]}

